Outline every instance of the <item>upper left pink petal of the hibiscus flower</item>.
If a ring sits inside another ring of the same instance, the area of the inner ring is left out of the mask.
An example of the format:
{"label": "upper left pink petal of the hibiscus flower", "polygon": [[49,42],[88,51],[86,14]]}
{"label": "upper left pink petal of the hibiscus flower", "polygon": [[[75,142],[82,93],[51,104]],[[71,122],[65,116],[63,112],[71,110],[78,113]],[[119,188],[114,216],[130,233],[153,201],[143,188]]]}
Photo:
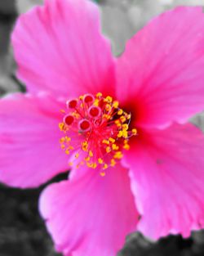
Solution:
{"label": "upper left pink petal of the hibiscus flower", "polygon": [[114,61],[91,1],[47,0],[20,16],[12,43],[18,76],[30,92],[113,92]]}

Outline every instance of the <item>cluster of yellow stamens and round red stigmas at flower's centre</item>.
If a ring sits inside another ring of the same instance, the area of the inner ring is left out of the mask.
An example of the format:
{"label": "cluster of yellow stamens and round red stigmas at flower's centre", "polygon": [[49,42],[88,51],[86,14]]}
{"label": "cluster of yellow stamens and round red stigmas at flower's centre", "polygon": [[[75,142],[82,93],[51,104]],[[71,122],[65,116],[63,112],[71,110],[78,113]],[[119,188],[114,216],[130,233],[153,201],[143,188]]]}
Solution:
{"label": "cluster of yellow stamens and round red stigmas at flower's centre", "polygon": [[[118,101],[103,97],[100,92],[67,101],[66,110],[61,111],[64,113],[59,124],[64,132],[61,148],[68,155],[74,153],[77,167],[83,164],[90,168],[100,165],[103,170],[113,167],[122,159],[122,151],[129,150],[130,137],[137,134],[135,128],[129,130],[131,114],[122,110]],[[104,176],[104,171],[101,175]]]}

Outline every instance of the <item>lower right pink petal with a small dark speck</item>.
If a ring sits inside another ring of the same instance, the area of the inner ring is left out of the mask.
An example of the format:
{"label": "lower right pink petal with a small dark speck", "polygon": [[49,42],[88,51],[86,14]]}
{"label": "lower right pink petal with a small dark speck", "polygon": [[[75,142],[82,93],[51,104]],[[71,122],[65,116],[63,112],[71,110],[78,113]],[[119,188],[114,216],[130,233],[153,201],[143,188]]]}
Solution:
{"label": "lower right pink petal with a small dark speck", "polygon": [[146,236],[204,227],[204,136],[193,124],[147,133],[126,155]]}

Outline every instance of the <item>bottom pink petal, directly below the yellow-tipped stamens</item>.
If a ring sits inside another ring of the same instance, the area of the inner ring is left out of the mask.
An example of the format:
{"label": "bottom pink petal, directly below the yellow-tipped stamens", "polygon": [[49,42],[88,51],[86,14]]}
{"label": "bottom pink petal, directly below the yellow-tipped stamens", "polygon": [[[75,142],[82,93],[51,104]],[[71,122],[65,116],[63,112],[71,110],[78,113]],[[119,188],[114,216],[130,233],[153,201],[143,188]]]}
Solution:
{"label": "bottom pink petal, directly below the yellow-tipped stamens", "polygon": [[40,199],[42,216],[64,255],[115,256],[138,218],[128,173],[120,166],[105,177],[96,169],[84,172],[48,186]]}

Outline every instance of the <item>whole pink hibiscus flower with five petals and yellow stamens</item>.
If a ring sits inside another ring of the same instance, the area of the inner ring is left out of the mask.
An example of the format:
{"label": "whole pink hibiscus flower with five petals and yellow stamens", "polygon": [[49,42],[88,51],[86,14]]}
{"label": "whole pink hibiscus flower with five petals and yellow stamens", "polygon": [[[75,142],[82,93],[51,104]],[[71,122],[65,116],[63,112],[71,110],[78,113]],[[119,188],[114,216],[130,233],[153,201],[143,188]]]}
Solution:
{"label": "whole pink hibiscus flower with five petals and yellow stamens", "polygon": [[65,256],[113,256],[135,230],[204,227],[204,137],[188,124],[204,109],[203,29],[201,7],[178,7],[114,58],[88,0],[20,16],[12,43],[28,92],[0,101],[0,180],[35,187],[72,169],[40,199]]}

